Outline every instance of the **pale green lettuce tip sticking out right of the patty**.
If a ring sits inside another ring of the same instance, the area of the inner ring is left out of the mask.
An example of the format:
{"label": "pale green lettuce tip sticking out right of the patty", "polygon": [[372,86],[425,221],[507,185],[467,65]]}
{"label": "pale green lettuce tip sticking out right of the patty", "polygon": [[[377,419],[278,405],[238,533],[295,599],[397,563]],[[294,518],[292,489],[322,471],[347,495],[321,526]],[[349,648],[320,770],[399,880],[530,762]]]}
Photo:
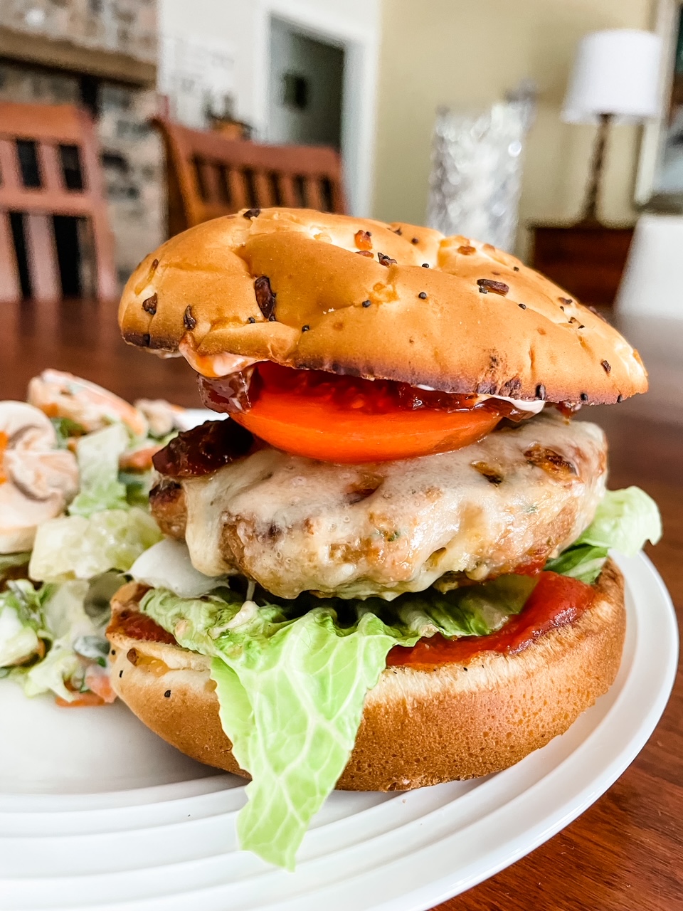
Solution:
{"label": "pale green lettuce tip sticking out right of the patty", "polygon": [[657,544],[662,523],[657,504],[639,487],[607,490],[586,531],[546,569],[592,584],[611,549],[635,557],[646,541]]}

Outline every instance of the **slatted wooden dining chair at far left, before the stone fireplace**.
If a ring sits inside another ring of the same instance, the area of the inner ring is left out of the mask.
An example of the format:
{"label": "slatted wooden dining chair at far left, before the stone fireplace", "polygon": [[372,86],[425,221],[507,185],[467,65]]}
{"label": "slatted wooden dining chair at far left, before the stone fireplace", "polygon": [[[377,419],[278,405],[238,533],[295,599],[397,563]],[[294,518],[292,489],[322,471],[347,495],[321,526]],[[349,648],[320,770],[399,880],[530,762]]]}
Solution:
{"label": "slatted wooden dining chair at far left, before the stone fireplace", "polygon": [[97,296],[117,296],[103,183],[95,129],[85,111],[0,102],[0,301],[22,296],[24,258],[31,296],[61,296],[54,216],[87,220]]}

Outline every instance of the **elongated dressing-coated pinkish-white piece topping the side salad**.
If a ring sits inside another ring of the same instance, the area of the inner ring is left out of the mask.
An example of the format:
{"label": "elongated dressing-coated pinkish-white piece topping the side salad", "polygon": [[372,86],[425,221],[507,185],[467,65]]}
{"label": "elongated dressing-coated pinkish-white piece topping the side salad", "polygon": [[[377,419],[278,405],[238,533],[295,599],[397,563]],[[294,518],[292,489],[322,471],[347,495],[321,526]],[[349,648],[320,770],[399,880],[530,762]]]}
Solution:
{"label": "elongated dressing-coated pinkish-white piece topping the side salad", "polygon": [[147,419],[138,408],[73,374],[44,370],[28,384],[26,398],[48,417],[66,417],[88,434],[121,422],[134,435],[147,436]]}

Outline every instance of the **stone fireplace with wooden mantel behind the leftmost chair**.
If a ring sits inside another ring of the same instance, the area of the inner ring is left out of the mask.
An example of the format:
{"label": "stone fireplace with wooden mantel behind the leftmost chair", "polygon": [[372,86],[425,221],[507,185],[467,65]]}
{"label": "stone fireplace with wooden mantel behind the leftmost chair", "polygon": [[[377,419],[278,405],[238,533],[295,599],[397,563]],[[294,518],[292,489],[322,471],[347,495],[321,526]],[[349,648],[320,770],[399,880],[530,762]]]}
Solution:
{"label": "stone fireplace with wooden mantel behind the leftmost chair", "polygon": [[0,100],[87,107],[95,119],[120,284],[165,235],[156,0],[5,0]]}

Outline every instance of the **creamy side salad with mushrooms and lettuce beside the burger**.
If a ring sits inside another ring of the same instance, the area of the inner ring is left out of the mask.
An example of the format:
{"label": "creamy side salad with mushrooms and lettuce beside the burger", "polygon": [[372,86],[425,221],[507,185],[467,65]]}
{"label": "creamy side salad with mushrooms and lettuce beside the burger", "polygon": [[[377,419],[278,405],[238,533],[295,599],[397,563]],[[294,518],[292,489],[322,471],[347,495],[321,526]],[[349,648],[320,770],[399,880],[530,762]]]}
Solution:
{"label": "creamy side salad with mushrooms and lettuce beside the burger", "polygon": [[116,699],[109,599],[161,539],[151,459],[187,425],[176,405],[56,370],[0,402],[0,678],[64,706]]}

